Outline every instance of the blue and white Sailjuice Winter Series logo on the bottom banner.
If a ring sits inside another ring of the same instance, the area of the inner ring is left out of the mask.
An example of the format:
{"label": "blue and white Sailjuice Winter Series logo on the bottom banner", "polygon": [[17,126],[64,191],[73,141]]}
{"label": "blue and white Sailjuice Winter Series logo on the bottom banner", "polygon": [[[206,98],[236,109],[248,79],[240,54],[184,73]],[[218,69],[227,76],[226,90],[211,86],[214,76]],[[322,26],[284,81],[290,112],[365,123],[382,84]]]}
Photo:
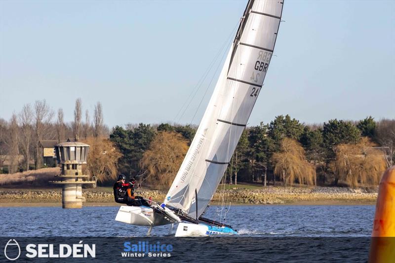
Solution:
{"label": "blue and white Sailjuice Winter Series logo on the bottom banner", "polygon": [[159,241],[150,244],[148,241],[139,241],[138,243],[132,244],[129,241],[123,243],[122,257],[153,257],[153,258],[167,258],[171,257],[173,252],[173,245],[161,244]]}

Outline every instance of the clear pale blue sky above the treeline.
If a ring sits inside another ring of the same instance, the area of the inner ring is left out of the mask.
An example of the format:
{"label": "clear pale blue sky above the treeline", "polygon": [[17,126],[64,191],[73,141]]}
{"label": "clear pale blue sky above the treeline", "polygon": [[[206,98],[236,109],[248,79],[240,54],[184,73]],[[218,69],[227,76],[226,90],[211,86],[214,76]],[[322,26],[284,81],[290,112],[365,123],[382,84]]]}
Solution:
{"label": "clear pale blue sky above the treeline", "polygon": [[[45,99],[71,122],[81,98],[110,128],[197,125],[246,2],[0,0],[0,118]],[[395,1],[285,0],[282,21],[248,126],[395,118]]]}

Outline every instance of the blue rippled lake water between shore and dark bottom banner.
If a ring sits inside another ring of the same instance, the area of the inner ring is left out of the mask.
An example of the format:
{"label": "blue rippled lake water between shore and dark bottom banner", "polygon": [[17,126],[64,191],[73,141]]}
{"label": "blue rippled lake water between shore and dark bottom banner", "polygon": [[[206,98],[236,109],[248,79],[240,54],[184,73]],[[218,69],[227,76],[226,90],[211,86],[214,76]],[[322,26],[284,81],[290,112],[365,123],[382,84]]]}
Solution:
{"label": "blue rippled lake water between shore and dark bottom banner", "polygon": [[[205,217],[219,220],[217,208]],[[148,228],[115,221],[117,206],[1,207],[1,236],[145,236]],[[226,215],[226,224],[239,236],[368,237],[374,205],[238,205]],[[220,214],[220,213],[219,213]],[[224,214],[222,215],[224,216]],[[168,234],[169,226],[156,227],[154,236]]]}

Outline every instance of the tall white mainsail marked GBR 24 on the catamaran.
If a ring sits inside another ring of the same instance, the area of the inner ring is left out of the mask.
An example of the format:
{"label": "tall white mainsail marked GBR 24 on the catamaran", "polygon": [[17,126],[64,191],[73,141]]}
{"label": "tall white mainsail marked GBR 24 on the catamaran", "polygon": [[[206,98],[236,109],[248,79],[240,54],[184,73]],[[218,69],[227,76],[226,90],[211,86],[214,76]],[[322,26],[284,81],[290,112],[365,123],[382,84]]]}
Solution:
{"label": "tall white mainsail marked GBR 24 on the catamaran", "polygon": [[214,93],[166,195],[166,204],[199,217],[213,197],[261,91],[282,6],[283,0],[248,1]]}

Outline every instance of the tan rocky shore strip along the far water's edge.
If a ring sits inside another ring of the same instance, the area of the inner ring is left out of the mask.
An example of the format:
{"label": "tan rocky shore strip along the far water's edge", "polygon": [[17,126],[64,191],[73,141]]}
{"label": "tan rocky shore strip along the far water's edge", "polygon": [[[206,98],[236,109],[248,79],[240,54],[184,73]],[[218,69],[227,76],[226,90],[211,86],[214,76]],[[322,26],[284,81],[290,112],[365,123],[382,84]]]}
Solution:
{"label": "tan rocky shore strip along the far water's edge", "polygon": [[[153,200],[163,200],[166,192],[159,190],[144,190],[137,193]],[[97,189],[84,189],[83,196],[86,205],[116,204],[112,192],[98,191]],[[345,187],[266,187],[259,190],[218,190],[212,199],[212,204],[231,202],[232,204],[333,204],[365,203],[374,204],[377,190],[351,189]],[[0,206],[13,206],[13,203],[50,203],[61,202],[62,191],[59,190],[0,190]],[[7,205],[8,204],[8,205]],[[19,204],[18,204],[19,205]]]}

